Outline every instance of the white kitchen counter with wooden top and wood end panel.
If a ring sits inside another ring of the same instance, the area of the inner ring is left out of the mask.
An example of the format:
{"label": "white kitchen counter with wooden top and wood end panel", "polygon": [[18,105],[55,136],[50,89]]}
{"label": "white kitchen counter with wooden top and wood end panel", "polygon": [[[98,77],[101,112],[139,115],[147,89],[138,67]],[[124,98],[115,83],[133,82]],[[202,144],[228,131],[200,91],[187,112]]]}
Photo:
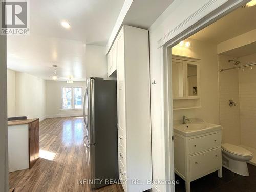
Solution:
{"label": "white kitchen counter with wooden top and wood end panel", "polygon": [[39,158],[39,119],[8,121],[9,172],[31,168]]}

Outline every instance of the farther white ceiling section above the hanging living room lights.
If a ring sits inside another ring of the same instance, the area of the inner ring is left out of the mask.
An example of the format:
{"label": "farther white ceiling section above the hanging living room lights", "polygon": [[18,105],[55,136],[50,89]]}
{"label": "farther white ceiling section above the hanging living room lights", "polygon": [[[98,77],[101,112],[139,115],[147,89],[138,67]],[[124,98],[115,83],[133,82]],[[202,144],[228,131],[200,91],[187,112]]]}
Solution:
{"label": "farther white ceiling section above the hanging living room lights", "polygon": [[7,40],[7,67],[52,80],[52,65],[57,65],[58,80],[72,77],[84,81],[86,44],[81,41],[45,36],[12,36]]}

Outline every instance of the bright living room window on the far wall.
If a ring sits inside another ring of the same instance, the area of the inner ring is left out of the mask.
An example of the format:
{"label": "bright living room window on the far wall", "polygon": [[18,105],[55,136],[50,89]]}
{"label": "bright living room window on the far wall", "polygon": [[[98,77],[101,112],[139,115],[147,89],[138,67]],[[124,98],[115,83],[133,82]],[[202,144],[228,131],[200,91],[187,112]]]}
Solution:
{"label": "bright living room window on the far wall", "polygon": [[81,87],[62,87],[62,109],[82,109]]}

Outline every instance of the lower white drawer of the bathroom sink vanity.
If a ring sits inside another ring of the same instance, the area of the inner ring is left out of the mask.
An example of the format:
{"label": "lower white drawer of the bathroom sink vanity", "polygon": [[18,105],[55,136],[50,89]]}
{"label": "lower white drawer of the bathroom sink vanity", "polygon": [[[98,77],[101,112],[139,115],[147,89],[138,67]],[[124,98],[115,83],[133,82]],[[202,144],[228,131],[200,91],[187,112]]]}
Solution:
{"label": "lower white drawer of the bathroom sink vanity", "polygon": [[221,148],[189,157],[191,180],[204,176],[221,167]]}

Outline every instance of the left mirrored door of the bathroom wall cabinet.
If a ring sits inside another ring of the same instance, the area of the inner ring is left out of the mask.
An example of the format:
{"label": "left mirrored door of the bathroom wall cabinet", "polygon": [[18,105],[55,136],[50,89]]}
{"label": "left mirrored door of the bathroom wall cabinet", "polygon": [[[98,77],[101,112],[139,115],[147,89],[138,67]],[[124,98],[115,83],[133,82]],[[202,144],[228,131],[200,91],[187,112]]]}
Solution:
{"label": "left mirrored door of the bathroom wall cabinet", "polygon": [[183,62],[172,62],[173,97],[183,97]]}

